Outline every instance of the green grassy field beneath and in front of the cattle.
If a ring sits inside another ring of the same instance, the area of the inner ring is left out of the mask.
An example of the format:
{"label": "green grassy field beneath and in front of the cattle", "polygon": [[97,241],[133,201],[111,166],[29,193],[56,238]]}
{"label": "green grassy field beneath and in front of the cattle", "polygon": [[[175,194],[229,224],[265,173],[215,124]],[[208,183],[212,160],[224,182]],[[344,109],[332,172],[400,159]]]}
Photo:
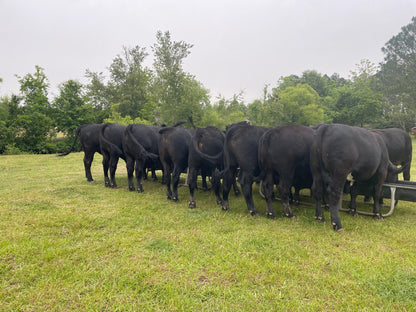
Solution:
{"label": "green grassy field beneath and in front of the cattle", "polygon": [[123,161],[118,189],[100,155],[88,183],[82,158],[0,156],[1,311],[416,310],[414,202],[383,221],[341,213],[334,232],[312,206],[289,220],[276,202],[268,220],[257,186],[259,216],[202,190],[190,210],[186,187],[179,203],[152,181],[129,192]]}

